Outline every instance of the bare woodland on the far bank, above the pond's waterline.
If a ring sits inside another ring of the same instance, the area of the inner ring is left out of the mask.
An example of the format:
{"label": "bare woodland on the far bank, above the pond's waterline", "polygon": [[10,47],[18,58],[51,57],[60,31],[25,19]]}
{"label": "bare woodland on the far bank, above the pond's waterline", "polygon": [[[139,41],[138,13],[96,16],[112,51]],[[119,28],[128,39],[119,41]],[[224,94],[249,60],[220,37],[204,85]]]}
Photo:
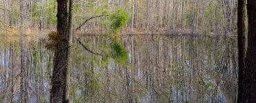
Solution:
{"label": "bare woodland on the far bank, above the pond's waterline", "polygon": [[[23,30],[34,32],[56,29],[55,0],[0,2],[0,25],[13,23],[18,28],[23,25]],[[232,34],[237,30],[237,0],[75,0],[73,26],[79,27],[86,19],[118,9],[129,12],[129,21],[122,29],[123,33],[193,30],[201,33]],[[13,21],[9,23],[10,20]],[[89,21],[80,30],[101,33],[105,32],[106,26],[109,26],[109,21],[104,21],[102,16]]]}

